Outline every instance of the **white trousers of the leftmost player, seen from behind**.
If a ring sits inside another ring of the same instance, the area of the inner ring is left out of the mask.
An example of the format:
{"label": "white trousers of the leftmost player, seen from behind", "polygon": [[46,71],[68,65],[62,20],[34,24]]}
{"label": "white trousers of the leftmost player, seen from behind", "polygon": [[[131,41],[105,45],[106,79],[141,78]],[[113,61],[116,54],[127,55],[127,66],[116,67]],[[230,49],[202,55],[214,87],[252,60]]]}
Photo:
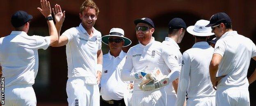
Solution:
{"label": "white trousers of the leftmost player, seen from behind", "polygon": [[5,105],[2,106],[36,106],[37,98],[32,86],[14,85],[5,87]]}

